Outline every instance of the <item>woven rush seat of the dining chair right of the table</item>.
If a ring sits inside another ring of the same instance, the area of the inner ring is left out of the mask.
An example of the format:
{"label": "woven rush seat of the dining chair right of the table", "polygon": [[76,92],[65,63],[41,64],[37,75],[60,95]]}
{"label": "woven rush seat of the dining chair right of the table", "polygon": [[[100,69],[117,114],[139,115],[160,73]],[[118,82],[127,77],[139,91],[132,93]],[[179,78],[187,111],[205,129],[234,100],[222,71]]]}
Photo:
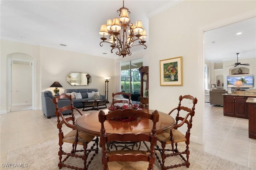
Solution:
{"label": "woven rush seat of the dining chair right of the table", "polygon": [[[187,140],[185,135],[177,129],[172,129],[172,134],[173,134],[174,143],[185,142]],[[158,134],[157,140],[160,142],[165,141],[166,144],[172,143],[172,141],[170,140],[170,131],[162,134]]]}

